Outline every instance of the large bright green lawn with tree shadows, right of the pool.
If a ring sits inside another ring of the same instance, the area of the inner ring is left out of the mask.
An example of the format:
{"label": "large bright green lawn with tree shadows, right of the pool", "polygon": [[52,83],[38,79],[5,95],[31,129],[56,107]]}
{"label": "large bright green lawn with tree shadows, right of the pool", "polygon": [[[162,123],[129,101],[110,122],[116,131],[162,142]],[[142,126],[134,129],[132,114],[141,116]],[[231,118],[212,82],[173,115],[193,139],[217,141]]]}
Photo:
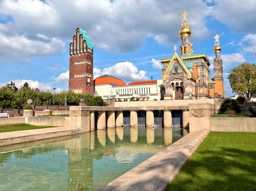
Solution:
{"label": "large bright green lawn with tree shadows, right of the pool", "polygon": [[256,190],[256,133],[210,132],[167,191]]}

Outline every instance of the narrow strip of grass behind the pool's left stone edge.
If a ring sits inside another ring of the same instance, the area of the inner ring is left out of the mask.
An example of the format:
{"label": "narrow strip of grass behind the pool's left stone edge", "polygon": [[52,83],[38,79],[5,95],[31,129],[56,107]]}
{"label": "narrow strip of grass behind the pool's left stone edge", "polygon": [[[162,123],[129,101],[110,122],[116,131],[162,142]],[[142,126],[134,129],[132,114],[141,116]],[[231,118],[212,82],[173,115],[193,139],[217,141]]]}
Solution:
{"label": "narrow strip of grass behind the pool's left stone edge", "polygon": [[16,125],[1,126],[0,133],[31,130],[31,129],[44,129],[44,128],[51,128],[51,127],[54,127],[54,126],[34,126],[34,125],[28,125],[28,124],[16,124]]}

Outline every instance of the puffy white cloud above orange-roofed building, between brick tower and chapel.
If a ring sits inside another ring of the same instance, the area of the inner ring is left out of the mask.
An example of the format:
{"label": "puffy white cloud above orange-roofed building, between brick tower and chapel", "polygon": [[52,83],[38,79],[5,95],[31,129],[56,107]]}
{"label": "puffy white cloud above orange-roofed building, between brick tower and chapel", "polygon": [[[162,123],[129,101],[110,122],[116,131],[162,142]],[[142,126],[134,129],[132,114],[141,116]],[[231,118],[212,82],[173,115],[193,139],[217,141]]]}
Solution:
{"label": "puffy white cloud above orange-roofed building, between brick tower and chapel", "polygon": [[127,81],[146,80],[147,71],[139,70],[132,62],[119,62],[104,69],[93,68],[94,78],[109,74]]}

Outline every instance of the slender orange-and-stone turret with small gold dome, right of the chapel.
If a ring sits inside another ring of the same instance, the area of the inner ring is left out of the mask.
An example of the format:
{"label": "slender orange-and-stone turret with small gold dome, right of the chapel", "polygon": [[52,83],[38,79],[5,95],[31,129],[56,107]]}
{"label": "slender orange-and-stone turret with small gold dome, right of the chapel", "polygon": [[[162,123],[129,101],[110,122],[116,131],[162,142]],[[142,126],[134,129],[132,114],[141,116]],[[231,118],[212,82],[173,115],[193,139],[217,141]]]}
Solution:
{"label": "slender orange-and-stone turret with small gold dome, right of the chapel", "polygon": [[215,92],[224,97],[224,88],[223,88],[223,67],[222,67],[222,58],[220,57],[220,41],[219,36],[216,35],[215,37],[215,58],[214,58],[214,81],[215,81]]}

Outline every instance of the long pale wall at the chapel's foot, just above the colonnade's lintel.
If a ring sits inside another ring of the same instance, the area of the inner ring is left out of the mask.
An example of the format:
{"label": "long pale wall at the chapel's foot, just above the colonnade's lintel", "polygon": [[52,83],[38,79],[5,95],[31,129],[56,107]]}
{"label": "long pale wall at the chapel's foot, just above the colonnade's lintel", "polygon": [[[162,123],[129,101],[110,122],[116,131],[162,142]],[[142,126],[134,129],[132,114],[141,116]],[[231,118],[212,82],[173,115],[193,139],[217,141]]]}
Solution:
{"label": "long pale wall at the chapel's foot, just above the colonnade's lintel", "polygon": [[189,103],[214,104],[214,99],[115,102],[115,107],[154,107],[154,106],[164,107],[167,105],[168,106],[188,106]]}

